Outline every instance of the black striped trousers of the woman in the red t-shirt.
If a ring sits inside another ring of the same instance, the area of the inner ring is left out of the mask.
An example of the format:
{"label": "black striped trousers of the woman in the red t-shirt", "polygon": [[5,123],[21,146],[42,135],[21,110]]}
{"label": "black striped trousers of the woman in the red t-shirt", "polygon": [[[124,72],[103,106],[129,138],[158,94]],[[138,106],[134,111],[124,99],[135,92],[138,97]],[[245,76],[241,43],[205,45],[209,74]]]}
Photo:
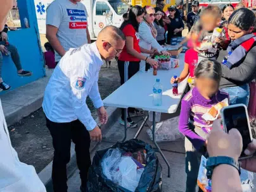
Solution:
{"label": "black striped trousers of the woman in the red t-shirt", "polygon": [[[139,71],[139,63],[140,61],[117,61],[121,85],[123,85],[126,81],[129,80],[129,78],[134,76]],[[134,108],[129,107],[128,111],[134,112]],[[121,117],[124,120],[125,110],[121,109],[121,112]]]}

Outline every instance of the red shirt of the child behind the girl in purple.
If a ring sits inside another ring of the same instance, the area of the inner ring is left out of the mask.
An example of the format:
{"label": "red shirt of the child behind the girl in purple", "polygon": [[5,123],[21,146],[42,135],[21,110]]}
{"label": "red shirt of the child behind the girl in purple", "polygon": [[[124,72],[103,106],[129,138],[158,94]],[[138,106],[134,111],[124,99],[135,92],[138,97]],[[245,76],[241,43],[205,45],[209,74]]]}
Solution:
{"label": "red shirt of the child behind the girl in purple", "polygon": [[195,66],[198,62],[198,52],[194,49],[188,49],[185,53],[185,63],[189,66],[189,76],[194,77]]}

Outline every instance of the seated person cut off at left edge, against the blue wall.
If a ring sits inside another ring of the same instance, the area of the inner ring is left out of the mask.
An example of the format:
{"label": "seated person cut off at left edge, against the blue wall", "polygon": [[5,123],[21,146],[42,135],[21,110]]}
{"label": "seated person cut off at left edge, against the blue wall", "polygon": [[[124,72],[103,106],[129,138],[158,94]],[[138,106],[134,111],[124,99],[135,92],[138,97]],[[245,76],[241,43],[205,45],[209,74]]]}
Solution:
{"label": "seated person cut off at left edge, against the blue wall", "polygon": [[9,44],[7,32],[8,25],[4,25],[3,31],[0,32],[0,91],[8,90],[11,88],[11,86],[5,83],[2,78],[3,56],[11,56],[11,59],[13,59],[13,63],[16,66],[18,76],[32,75],[31,71],[25,71],[22,69],[18,50],[14,45]]}

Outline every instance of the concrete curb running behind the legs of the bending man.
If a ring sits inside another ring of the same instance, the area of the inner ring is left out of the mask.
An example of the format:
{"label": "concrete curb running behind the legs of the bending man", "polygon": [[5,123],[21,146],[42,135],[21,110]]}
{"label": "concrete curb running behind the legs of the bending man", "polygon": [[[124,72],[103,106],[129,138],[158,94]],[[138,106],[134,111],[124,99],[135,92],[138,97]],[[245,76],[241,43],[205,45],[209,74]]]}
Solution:
{"label": "concrete curb running behind the legs of the bending man", "polygon": [[[106,112],[108,113],[108,123],[101,126],[102,134],[105,135],[105,133],[108,131],[108,129],[111,128],[113,123],[115,123],[118,119],[119,111],[116,107],[108,107],[106,109]],[[99,119],[96,119],[96,122],[99,122]],[[96,147],[98,143],[97,142],[91,142],[90,152],[92,152]],[[67,175],[68,178],[74,174],[75,170],[77,169],[77,163],[76,163],[76,157],[75,157],[75,145],[72,143],[71,150],[70,150],[70,162],[67,165]],[[51,181],[51,171],[52,171],[53,161],[51,161],[41,172],[39,172],[38,176],[41,179],[42,183],[44,183],[44,186],[46,186],[46,189],[50,189],[52,187],[52,181]]]}

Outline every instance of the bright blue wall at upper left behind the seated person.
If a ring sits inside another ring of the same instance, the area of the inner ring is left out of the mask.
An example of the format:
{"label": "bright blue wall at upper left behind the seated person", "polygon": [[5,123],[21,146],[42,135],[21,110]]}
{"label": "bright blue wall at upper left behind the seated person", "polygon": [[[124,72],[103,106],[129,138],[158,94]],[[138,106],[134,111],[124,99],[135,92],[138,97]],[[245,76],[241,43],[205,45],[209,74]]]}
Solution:
{"label": "bright blue wall at upper left behind the seated person", "polygon": [[[18,0],[18,8],[22,28],[8,32],[9,42],[18,49],[22,68],[32,71],[33,75],[29,77],[18,76],[11,57],[4,56],[2,76],[3,80],[11,85],[10,90],[38,80],[45,75],[44,57],[41,50],[34,0]],[[23,18],[25,17],[29,20],[30,28],[25,28],[23,24]],[[3,93],[6,92],[3,91],[0,95]]]}

